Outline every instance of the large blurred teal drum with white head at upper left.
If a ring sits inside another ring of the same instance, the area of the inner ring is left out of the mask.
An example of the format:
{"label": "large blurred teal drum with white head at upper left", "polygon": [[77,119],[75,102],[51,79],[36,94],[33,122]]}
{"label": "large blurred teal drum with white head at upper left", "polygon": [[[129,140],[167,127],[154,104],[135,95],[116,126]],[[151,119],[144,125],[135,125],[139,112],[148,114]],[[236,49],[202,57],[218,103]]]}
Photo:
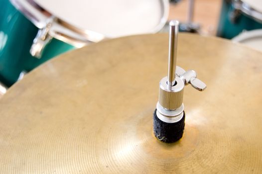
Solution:
{"label": "large blurred teal drum with white head at upper left", "polygon": [[104,38],[154,33],[168,0],[1,0],[0,81],[6,86],[65,51]]}

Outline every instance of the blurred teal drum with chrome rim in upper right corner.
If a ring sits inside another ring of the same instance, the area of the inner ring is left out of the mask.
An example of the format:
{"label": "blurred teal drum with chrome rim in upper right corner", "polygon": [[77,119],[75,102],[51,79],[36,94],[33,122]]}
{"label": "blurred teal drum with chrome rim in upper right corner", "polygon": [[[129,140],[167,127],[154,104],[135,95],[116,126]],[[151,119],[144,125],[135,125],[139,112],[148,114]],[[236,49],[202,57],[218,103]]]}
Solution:
{"label": "blurred teal drum with chrome rim in upper right corner", "polygon": [[262,0],[223,0],[217,36],[232,39],[262,28]]}

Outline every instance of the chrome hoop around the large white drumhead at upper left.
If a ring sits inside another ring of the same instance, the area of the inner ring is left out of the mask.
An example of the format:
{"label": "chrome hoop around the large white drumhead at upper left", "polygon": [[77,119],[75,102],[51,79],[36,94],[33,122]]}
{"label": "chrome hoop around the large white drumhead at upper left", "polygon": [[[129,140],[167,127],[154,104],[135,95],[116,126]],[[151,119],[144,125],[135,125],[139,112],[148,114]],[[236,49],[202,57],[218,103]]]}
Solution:
{"label": "chrome hoop around the large white drumhead at upper left", "polygon": [[[49,18],[56,18],[55,24],[63,29],[72,31],[72,36],[60,31],[53,30],[52,28],[50,29],[49,34],[54,38],[70,43],[76,47],[82,47],[90,42],[99,42],[105,38],[110,38],[104,34],[95,31],[75,27],[74,25],[64,20],[53,16],[48,10],[38,5],[34,0],[10,0],[10,2],[37,28],[44,28]],[[162,18],[160,19],[160,23],[149,33],[156,33],[160,31],[167,21],[169,13],[169,1],[161,0],[161,2]],[[29,8],[32,8],[34,12],[32,12],[32,10],[30,10]]]}

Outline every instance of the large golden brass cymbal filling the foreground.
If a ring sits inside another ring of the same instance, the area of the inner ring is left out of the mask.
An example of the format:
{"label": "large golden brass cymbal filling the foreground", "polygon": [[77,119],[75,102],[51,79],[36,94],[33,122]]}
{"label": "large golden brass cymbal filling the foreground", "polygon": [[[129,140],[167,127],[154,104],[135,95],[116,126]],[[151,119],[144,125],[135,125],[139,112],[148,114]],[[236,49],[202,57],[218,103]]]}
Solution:
{"label": "large golden brass cymbal filling the foreground", "polygon": [[152,132],[168,35],[138,35],[68,52],[0,99],[0,173],[141,174],[262,171],[262,53],[179,34],[177,65],[208,88],[185,87],[182,139]]}

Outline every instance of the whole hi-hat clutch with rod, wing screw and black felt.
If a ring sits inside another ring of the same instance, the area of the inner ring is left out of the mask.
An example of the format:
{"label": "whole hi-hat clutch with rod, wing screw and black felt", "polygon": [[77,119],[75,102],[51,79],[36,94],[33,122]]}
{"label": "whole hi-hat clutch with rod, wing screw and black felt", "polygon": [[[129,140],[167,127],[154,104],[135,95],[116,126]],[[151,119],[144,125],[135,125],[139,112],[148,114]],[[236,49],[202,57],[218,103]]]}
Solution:
{"label": "whole hi-hat clutch with rod, wing screw and black felt", "polygon": [[159,83],[159,97],[153,116],[155,137],[166,143],[178,141],[183,136],[185,112],[183,104],[184,86],[203,91],[206,85],[197,79],[194,70],[185,71],[176,66],[179,21],[169,22],[169,54],[167,77]]}

